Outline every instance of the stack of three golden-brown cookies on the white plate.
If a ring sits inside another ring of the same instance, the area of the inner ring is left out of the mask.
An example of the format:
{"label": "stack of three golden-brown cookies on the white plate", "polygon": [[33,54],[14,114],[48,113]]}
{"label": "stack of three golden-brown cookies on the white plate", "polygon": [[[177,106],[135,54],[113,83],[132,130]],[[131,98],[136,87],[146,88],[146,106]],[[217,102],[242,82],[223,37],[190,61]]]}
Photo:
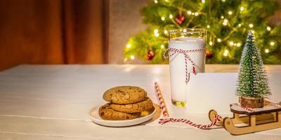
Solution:
{"label": "stack of three golden-brown cookies on the white plate", "polygon": [[152,109],[151,99],[141,87],[119,86],[105,91],[103,99],[110,102],[100,106],[98,114],[104,120],[129,120],[137,118],[142,111]]}

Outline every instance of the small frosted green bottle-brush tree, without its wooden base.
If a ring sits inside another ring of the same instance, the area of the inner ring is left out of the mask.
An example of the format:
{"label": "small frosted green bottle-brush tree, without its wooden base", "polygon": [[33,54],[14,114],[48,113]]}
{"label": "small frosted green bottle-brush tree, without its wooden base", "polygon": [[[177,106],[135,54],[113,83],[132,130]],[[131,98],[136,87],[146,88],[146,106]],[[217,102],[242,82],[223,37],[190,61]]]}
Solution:
{"label": "small frosted green bottle-brush tree, without its wooden base", "polygon": [[239,96],[254,98],[270,94],[263,60],[251,31],[242,52],[236,92]]}

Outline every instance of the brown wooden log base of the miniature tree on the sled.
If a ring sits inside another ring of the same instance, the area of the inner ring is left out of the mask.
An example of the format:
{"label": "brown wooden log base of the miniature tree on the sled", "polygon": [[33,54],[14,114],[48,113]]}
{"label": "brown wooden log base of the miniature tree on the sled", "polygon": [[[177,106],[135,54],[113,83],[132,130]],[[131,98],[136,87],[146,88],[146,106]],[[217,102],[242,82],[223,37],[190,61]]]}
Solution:
{"label": "brown wooden log base of the miniature tree on the sled", "polygon": [[252,97],[241,97],[240,103],[242,106],[246,106],[252,109],[263,108],[263,97],[261,97],[260,99]]}

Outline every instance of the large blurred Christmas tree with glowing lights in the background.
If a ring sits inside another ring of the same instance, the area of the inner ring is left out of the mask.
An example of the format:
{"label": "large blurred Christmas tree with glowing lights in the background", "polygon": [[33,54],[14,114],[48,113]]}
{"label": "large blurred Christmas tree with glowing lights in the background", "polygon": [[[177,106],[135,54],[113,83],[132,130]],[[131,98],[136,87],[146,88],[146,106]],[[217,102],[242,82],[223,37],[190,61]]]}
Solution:
{"label": "large blurred Christmas tree with glowing lights in the background", "polygon": [[124,62],[135,57],[165,63],[168,30],[207,29],[207,63],[238,64],[242,40],[253,30],[266,64],[281,64],[281,25],[266,20],[280,8],[275,0],[154,0],[142,9],[146,31],[129,38]]}

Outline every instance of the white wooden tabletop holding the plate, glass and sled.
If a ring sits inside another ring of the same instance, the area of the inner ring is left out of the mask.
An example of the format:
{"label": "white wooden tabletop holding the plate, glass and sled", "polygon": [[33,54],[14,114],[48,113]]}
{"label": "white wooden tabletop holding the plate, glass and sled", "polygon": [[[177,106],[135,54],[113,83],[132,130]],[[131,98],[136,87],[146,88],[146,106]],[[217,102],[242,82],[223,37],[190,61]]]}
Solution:
{"label": "white wooden tabletop holding the plate, glass and sled", "polygon": [[[237,72],[237,67],[207,65],[206,71]],[[266,69],[279,72],[281,66]],[[89,119],[89,109],[104,103],[107,88],[138,85],[155,100],[155,80],[168,96],[167,65],[20,65],[1,71],[0,139],[281,139],[266,132],[233,136],[222,129],[165,125],[103,127]]]}

